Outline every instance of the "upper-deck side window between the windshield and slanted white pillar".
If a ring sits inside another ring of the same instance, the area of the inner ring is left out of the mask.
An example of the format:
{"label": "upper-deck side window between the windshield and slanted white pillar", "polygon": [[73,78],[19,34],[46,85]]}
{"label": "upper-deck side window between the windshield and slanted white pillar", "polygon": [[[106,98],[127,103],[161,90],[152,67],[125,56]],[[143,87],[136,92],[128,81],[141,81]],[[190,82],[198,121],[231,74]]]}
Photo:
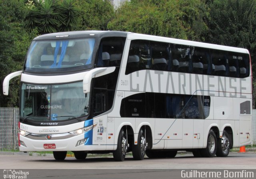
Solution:
{"label": "upper-deck side window between the windshield and slanted white pillar", "polygon": [[107,37],[100,42],[97,66],[120,66],[125,38]]}

